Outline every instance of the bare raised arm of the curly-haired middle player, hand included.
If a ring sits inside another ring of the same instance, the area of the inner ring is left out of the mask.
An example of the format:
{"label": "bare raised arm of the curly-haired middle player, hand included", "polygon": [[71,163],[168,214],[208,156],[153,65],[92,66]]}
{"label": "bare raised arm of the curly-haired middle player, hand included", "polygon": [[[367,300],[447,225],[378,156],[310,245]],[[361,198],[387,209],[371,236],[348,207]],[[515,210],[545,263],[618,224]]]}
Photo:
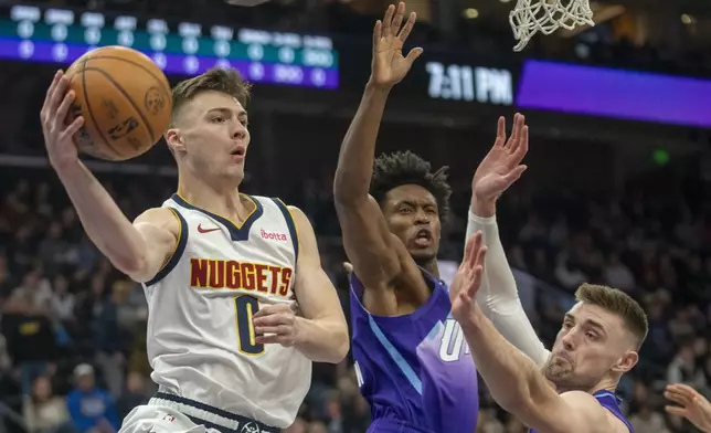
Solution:
{"label": "bare raised arm of the curly-haired middle player, hand included", "polygon": [[362,283],[371,288],[388,286],[401,271],[399,240],[390,233],[379,203],[369,196],[373,175],[375,140],[390,89],[410,71],[422,53],[407,57],[402,46],[415,23],[412,13],[402,27],[405,6],[388,8],[373,30],[371,78],[351,123],[338,158],[333,179],[336,210],[343,235],[343,247]]}

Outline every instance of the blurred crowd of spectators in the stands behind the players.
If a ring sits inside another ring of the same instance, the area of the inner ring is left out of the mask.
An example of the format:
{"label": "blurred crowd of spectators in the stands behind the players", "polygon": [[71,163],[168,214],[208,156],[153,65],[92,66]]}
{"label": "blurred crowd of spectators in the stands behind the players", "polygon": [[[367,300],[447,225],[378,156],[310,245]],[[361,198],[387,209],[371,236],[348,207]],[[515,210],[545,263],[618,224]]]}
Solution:
{"label": "blurred crowd of spectators in the stands behind the players", "polygon": [[[87,240],[50,171],[14,175],[8,171],[0,182],[3,426],[8,432],[115,432],[123,416],[155,392],[142,291]],[[174,188],[170,178],[103,181],[129,218],[159,205]],[[293,196],[290,202],[314,221],[325,266],[348,314],[330,184],[307,181],[300,194]],[[698,198],[694,203],[709,202],[705,196]],[[454,199],[456,213],[466,215],[466,189]],[[709,394],[710,211],[689,207],[677,193],[632,188],[604,198],[521,188],[507,193],[499,205],[510,264],[522,295],[534,295],[527,307],[546,345],[582,282],[619,287],[644,303],[650,335],[643,361],[619,389],[638,432],[693,431],[664,414],[666,383],[688,383]],[[460,250],[463,232],[463,220],[455,218],[443,251]],[[456,255],[448,258],[456,262]],[[446,258],[443,268],[452,264]],[[486,390],[481,401],[481,433],[526,432]],[[312,388],[287,431],[362,433],[368,424],[368,405],[358,392],[351,362],[344,361],[315,365]]]}

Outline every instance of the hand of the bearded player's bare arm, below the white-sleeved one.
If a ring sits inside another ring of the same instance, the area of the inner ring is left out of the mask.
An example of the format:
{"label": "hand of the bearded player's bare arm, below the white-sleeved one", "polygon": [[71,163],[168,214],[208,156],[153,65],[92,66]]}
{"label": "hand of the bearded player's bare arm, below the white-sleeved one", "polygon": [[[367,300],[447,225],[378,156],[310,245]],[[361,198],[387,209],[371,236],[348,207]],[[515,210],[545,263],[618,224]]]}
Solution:
{"label": "hand of the bearded player's bare arm, below the white-sleeved one", "polygon": [[481,286],[486,253],[481,232],[477,231],[467,241],[464,258],[449,286],[452,315],[459,323],[476,313],[475,296]]}

